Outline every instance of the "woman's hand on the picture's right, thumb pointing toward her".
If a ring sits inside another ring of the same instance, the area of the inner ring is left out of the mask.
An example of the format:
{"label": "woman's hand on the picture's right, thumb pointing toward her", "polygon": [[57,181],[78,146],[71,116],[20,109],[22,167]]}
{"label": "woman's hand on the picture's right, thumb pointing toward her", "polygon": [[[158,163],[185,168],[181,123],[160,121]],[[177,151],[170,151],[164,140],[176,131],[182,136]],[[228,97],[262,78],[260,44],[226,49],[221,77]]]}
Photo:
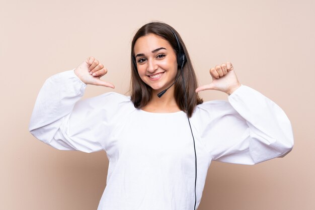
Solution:
{"label": "woman's hand on the picture's right, thumb pointing toward her", "polygon": [[212,82],[202,85],[196,89],[196,92],[203,90],[219,90],[230,95],[234,90],[241,86],[237,75],[234,72],[233,65],[230,62],[216,65],[210,69]]}

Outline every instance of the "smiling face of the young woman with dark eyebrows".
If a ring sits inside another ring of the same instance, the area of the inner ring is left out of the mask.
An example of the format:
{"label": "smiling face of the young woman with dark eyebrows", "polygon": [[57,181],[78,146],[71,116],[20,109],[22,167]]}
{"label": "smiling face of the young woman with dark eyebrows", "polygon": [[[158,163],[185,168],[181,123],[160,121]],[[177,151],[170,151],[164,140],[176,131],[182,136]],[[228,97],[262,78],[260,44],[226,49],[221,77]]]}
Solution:
{"label": "smiling face of the young woman with dark eyebrows", "polygon": [[156,92],[175,81],[177,58],[167,40],[155,34],[140,37],[135,42],[134,54],[140,78]]}

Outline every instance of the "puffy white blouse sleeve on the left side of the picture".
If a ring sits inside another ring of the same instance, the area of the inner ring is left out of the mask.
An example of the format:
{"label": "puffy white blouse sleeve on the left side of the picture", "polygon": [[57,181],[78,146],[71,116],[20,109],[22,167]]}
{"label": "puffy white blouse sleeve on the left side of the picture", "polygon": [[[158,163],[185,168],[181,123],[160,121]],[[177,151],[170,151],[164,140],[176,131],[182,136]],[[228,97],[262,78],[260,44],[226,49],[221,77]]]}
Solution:
{"label": "puffy white blouse sleeve on the left side of the picture", "polygon": [[30,133],[59,150],[104,150],[113,127],[115,100],[109,99],[111,93],[80,100],[86,86],[74,69],[49,77],[37,96]]}

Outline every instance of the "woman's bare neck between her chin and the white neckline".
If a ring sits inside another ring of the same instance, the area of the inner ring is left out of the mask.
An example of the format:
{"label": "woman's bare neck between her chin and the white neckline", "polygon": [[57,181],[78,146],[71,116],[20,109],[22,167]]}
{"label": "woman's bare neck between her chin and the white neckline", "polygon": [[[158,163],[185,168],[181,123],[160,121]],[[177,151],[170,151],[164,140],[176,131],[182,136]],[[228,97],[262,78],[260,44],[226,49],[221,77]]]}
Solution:
{"label": "woman's bare neck between her chin and the white neckline", "polygon": [[174,113],[181,111],[174,96],[174,86],[168,89],[161,97],[157,94],[160,91],[153,90],[150,101],[141,108],[143,111],[152,113]]}

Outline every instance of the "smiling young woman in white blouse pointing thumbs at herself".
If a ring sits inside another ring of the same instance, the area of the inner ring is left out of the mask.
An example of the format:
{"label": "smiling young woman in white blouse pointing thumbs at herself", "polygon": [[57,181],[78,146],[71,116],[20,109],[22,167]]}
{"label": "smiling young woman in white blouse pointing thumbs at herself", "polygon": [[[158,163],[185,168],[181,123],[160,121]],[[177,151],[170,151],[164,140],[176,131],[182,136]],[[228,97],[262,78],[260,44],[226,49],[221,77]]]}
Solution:
{"label": "smiling young woman in white blouse pointing thumbs at herself", "polygon": [[[211,68],[212,82],[197,88],[185,44],[167,24],[146,24],[134,36],[131,96],[108,92],[80,100],[88,84],[114,88],[100,79],[106,73],[89,57],[49,77],[29,126],[60,150],[106,151],[99,210],[197,209],[212,160],[256,164],[292,149],[283,110],[242,85],[231,63]],[[197,92],[207,89],[227,93],[228,101],[203,102]]]}

